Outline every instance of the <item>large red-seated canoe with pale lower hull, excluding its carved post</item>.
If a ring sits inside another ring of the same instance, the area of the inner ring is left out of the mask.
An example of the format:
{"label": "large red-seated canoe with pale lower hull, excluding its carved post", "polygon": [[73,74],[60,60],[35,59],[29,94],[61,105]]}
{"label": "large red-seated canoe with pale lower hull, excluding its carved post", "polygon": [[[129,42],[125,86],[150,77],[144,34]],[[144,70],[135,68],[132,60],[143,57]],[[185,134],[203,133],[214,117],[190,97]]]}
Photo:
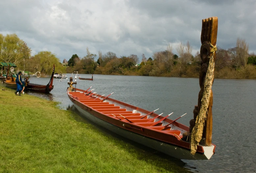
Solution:
{"label": "large red-seated canoe with pale lower hull, excluding its carved post", "polygon": [[116,134],[178,159],[208,160],[215,153],[214,144],[199,144],[195,155],[192,155],[190,142],[181,139],[189,127],[173,122],[167,118],[168,115],[158,115],[111,99],[109,95],[94,96],[92,90],[88,90],[70,92],[68,88],[67,94],[81,114]]}

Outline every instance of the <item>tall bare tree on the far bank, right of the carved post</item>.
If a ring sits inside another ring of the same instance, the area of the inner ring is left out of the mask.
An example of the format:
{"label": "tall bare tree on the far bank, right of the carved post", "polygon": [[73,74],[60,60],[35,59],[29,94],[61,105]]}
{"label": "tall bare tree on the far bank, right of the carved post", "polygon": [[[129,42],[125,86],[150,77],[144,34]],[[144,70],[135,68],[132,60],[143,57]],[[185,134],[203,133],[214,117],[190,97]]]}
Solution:
{"label": "tall bare tree on the far bank, right of the carved post", "polygon": [[241,60],[241,63],[245,67],[248,62],[249,45],[246,43],[245,39],[237,38],[237,56]]}

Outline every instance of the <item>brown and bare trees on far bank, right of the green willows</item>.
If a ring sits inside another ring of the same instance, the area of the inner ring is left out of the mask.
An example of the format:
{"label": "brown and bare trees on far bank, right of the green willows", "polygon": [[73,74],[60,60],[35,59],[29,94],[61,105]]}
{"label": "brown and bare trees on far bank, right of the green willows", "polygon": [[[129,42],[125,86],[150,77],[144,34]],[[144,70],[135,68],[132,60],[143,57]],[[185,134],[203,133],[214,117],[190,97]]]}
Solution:
{"label": "brown and bare trees on far bank, right of the green willows", "polygon": [[[68,61],[67,73],[78,71],[80,74],[108,74],[108,75],[141,75],[141,76],[169,76],[169,77],[198,77],[200,71],[200,52],[192,55],[193,47],[190,42],[180,42],[174,48],[168,44],[165,51],[155,52],[152,58],[141,55],[140,65],[137,55],[121,56],[115,53],[98,52],[80,58],[74,54]],[[237,38],[236,47],[222,49],[217,47],[215,60],[216,78],[256,79],[256,55],[249,54],[249,45],[245,39]]]}

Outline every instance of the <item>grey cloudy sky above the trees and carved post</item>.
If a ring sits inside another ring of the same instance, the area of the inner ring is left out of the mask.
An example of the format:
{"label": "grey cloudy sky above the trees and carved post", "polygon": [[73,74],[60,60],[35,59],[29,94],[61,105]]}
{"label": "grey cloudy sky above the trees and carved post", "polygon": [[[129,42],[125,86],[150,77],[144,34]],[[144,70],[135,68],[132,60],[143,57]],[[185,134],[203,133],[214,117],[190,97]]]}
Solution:
{"label": "grey cloudy sky above the trees and carved post", "polygon": [[[190,41],[200,49],[202,19],[218,17],[217,45],[246,39],[256,53],[255,0],[1,0],[0,33],[16,33],[32,49],[55,53],[61,62],[73,54],[108,51],[141,59]],[[96,60],[96,59],[95,59]],[[97,61],[97,60],[96,60]]]}

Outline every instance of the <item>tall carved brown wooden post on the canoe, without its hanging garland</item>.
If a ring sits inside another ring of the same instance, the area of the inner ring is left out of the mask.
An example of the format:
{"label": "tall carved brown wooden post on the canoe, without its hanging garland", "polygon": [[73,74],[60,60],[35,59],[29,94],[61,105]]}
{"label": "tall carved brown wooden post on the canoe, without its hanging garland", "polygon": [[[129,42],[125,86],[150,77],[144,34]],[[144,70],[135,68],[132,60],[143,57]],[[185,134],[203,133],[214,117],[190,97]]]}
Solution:
{"label": "tall carved brown wooden post on the canoe, without its hanging garland", "polygon": [[[208,65],[210,61],[210,57],[213,56],[213,62],[215,61],[215,51],[212,49],[214,48],[216,50],[216,41],[217,41],[217,31],[218,31],[218,17],[211,17],[207,19],[203,19],[202,22],[202,32],[201,32],[201,49],[200,49],[200,57],[201,57],[201,69],[199,74],[199,85],[200,85],[200,91],[198,94],[198,104],[195,106],[195,109],[193,111],[194,117],[192,120],[190,120],[190,132],[192,132],[195,124],[196,124],[196,118],[199,114],[199,111],[201,109],[202,104],[202,97],[204,93],[204,86],[205,86],[205,79],[206,79],[206,73],[208,70]],[[209,73],[209,72],[208,72]],[[212,75],[213,72],[212,72]],[[213,80],[212,80],[213,83]],[[212,84],[211,84],[212,85]],[[212,126],[213,126],[213,117],[212,117],[212,106],[213,106],[213,92],[212,89],[209,89],[210,93],[210,99],[209,99],[209,105],[206,113],[206,120],[204,121],[204,127],[203,127],[203,134],[202,139],[200,141],[201,144],[205,146],[211,146],[212,144]]]}

